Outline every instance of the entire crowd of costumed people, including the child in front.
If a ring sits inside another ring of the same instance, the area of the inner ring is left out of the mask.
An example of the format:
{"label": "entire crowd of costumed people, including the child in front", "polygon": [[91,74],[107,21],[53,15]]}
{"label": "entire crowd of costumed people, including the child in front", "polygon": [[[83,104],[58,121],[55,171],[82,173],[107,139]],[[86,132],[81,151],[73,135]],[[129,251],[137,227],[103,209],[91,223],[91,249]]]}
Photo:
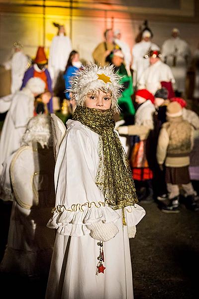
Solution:
{"label": "entire crowd of costumed people, including the child in front", "polygon": [[54,25],[48,59],[39,46],[30,61],[17,42],[4,64],[0,199],[13,203],[0,271],[49,275],[46,299],[130,299],[138,201],[199,211],[199,116],[185,100],[193,57],[177,28],[160,47],[146,26],[132,49],[107,29],[83,63]]}

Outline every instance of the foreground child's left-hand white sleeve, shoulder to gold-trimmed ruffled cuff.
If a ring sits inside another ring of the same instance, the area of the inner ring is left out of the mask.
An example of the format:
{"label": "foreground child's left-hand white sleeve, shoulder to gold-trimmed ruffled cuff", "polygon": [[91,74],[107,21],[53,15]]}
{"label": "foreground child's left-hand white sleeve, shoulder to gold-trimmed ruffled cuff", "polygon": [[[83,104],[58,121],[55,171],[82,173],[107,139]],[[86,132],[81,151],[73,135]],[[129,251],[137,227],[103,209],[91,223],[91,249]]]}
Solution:
{"label": "foreground child's left-hand white sleeve, shoulder to gold-trimmed ruffled cuff", "polygon": [[88,235],[91,231],[87,225],[116,222],[119,218],[104,203],[103,194],[95,183],[96,145],[88,129],[72,125],[59,149],[55,166],[56,206],[47,226],[57,229],[61,235]]}

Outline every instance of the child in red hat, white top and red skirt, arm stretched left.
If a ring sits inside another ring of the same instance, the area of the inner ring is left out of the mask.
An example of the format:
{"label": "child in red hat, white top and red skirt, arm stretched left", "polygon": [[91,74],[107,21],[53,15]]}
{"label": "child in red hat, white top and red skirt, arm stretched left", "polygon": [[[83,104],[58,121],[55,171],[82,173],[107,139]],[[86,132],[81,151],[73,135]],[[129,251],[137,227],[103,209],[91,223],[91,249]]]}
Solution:
{"label": "child in red hat, white top and red skirt, arm stretched left", "polygon": [[[135,93],[135,102],[138,104],[135,113],[135,124],[120,126],[117,131],[120,135],[133,135],[133,149],[130,156],[130,165],[138,191],[139,200],[149,202],[153,200],[152,178],[146,158],[146,140],[154,128],[153,114],[155,112],[154,96],[146,89]],[[140,193],[140,194],[139,194]]]}

